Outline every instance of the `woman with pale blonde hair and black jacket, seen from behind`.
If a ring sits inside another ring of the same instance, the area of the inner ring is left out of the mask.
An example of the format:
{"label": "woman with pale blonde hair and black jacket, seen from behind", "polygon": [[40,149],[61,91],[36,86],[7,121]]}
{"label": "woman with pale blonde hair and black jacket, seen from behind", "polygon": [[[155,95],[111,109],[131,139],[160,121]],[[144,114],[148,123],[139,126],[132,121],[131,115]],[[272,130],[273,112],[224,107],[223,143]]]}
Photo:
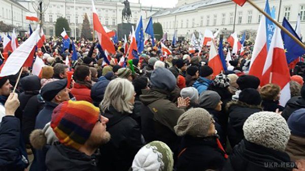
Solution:
{"label": "woman with pale blonde hair and black jacket, seen from behind", "polygon": [[[100,104],[101,112],[109,118],[107,131],[110,141],[101,146],[99,167],[103,170],[128,170],[144,145],[140,127],[131,114],[135,103],[133,84],[123,78],[111,80]],[[118,164],[119,163],[119,164]]]}

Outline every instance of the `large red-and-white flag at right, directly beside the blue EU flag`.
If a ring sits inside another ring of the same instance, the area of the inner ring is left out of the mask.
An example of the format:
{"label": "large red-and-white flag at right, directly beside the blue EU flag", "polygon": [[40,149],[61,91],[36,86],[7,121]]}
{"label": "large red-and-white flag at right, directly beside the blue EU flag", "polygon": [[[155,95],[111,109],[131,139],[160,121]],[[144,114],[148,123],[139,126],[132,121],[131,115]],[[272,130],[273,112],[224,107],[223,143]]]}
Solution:
{"label": "large red-and-white flag at right, directly beside the blue EU flag", "polygon": [[290,73],[286,60],[281,30],[276,27],[266,62],[263,65],[262,84],[274,83],[281,87],[280,104],[285,106],[290,99]]}

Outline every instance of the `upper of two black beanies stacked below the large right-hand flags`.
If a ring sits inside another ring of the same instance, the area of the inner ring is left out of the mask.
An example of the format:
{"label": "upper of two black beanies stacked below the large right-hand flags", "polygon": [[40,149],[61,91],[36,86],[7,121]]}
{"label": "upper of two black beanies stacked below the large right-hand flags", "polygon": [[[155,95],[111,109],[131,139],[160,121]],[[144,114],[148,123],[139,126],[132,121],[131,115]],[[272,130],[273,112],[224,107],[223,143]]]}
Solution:
{"label": "upper of two black beanies stacked below the large right-hand flags", "polygon": [[242,75],[237,78],[236,83],[238,84],[240,90],[247,88],[257,89],[260,84],[260,80],[258,77],[253,75]]}

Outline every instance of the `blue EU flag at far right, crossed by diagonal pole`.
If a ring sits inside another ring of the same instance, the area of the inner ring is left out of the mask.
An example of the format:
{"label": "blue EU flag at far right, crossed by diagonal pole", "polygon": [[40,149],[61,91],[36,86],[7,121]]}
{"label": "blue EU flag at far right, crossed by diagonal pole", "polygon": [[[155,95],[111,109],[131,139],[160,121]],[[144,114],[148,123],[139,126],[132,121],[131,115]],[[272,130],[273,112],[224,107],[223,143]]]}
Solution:
{"label": "blue EU flag at far right, crossed by diagonal pole", "polygon": [[[296,34],[292,26],[289,24],[287,19],[284,17],[283,19],[283,27],[285,27],[291,34],[293,34],[295,37],[297,37],[299,40],[300,37]],[[287,63],[290,64],[292,61],[296,60],[298,57],[305,54],[305,49],[303,49],[301,46],[297,44],[288,34],[286,34],[284,31],[281,31],[282,39],[284,42],[284,47],[286,50],[286,59]]]}

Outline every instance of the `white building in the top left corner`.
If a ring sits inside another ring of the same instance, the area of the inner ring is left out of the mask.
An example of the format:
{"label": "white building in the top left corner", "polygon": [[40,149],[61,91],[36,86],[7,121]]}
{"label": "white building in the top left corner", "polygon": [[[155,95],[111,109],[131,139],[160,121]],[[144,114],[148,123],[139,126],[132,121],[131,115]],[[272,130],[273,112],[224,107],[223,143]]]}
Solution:
{"label": "white building in the top left corner", "polygon": [[29,12],[26,8],[14,0],[0,0],[0,21],[14,25],[18,30],[25,30],[28,21],[25,16]]}

